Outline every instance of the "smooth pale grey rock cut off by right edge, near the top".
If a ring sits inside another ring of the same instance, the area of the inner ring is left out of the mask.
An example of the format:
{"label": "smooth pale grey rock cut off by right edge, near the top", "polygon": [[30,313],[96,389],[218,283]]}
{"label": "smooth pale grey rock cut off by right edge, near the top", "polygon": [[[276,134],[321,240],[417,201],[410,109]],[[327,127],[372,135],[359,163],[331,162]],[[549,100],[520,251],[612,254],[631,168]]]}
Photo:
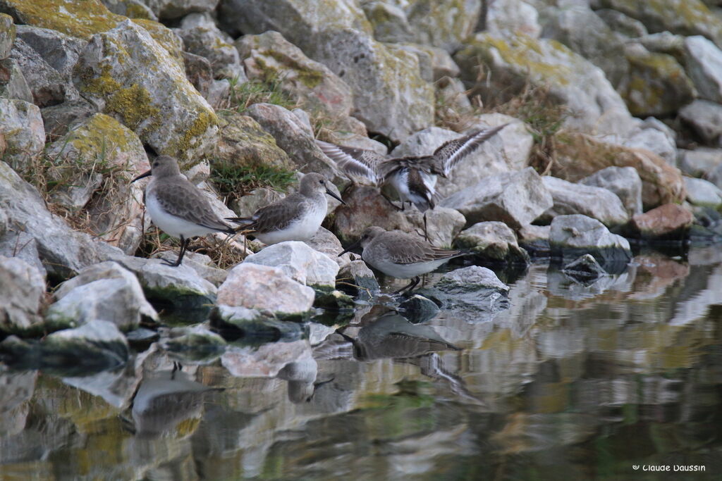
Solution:
{"label": "smooth pale grey rock cut off by right edge, near the top", "polygon": [[700,97],[722,102],[722,51],[705,37],[687,37],[684,39],[684,62]]}

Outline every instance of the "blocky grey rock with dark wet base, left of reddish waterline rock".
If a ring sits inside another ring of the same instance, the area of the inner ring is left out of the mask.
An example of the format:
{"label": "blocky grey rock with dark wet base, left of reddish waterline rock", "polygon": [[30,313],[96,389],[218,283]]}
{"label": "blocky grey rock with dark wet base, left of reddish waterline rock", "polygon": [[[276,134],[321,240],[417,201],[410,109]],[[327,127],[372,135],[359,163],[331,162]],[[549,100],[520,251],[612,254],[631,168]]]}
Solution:
{"label": "blocky grey rock with dark wet base, left of reddish waterline rock", "polygon": [[612,234],[600,221],[581,214],[554,217],[549,244],[552,254],[559,257],[575,259],[589,253],[603,265],[626,263],[632,257],[627,239]]}

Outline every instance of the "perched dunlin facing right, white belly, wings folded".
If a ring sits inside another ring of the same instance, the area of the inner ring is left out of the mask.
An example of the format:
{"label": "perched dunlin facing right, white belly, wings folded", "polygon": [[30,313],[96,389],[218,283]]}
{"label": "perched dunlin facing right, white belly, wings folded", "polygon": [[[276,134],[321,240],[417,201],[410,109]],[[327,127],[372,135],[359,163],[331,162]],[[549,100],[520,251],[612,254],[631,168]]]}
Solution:
{"label": "perched dunlin facing right, white belly, wings folded", "polygon": [[329,180],[321,174],[306,174],[297,193],[259,208],[251,217],[229,217],[227,220],[240,224],[244,231],[264,244],[308,240],[316,235],[329,210],[326,194],[344,203],[331,192],[329,185]]}

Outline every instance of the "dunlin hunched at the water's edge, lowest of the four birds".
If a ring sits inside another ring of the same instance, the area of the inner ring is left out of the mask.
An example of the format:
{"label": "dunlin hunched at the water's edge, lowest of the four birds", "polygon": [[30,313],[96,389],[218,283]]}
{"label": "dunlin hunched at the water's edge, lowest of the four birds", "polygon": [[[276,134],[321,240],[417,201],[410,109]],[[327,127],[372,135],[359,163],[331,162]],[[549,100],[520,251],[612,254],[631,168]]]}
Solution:
{"label": "dunlin hunched at the water's edge, lowest of the four birds", "polygon": [[459,250],[445,250],[434,247],[419,237],[406,234],[402,231],[385,231],[377,226],[367,228],[358,242],[349,246],[349,250],[361,245],[362,259],[371,267],[380,270],[386,275],[400,279],[411,279],[408,286],[404,286],[393,294],[399,294],[406,289],[411,290],[419,281],[421,275],[438,269],[454,257],[465,255]]}

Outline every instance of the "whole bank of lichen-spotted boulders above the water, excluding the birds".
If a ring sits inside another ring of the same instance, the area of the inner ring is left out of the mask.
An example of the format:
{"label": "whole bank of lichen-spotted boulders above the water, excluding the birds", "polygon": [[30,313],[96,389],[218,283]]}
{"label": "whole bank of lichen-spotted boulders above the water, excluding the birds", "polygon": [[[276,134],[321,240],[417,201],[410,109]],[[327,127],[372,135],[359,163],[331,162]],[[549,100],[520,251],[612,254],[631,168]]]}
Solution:
{"label": "whole bank of lichen-spotted boulders above the water, excluding the birds", "polygon": [[[417,320],[505,308],[508,287],[477,265],[380,294],[362,261],[336,257],[370,225],[426,220],[432,244],[474,263],[552,257],[580,282],[623,271],[638,244],[722,239],[716,2],[270,3],[0,0],[5,363],[97,372],[155,340],[209,362],[232,338],[308,337],[318,309],[334,325],[363,303]],[[426,219],[315,143],[427,155],[505,123],[438,180]],[[214,234],[171,268],[175,244],[130,183],[156,154],[221,218],[284,195],[297,172],[325,175],[347,205],[329,202],[309,242]]]}

